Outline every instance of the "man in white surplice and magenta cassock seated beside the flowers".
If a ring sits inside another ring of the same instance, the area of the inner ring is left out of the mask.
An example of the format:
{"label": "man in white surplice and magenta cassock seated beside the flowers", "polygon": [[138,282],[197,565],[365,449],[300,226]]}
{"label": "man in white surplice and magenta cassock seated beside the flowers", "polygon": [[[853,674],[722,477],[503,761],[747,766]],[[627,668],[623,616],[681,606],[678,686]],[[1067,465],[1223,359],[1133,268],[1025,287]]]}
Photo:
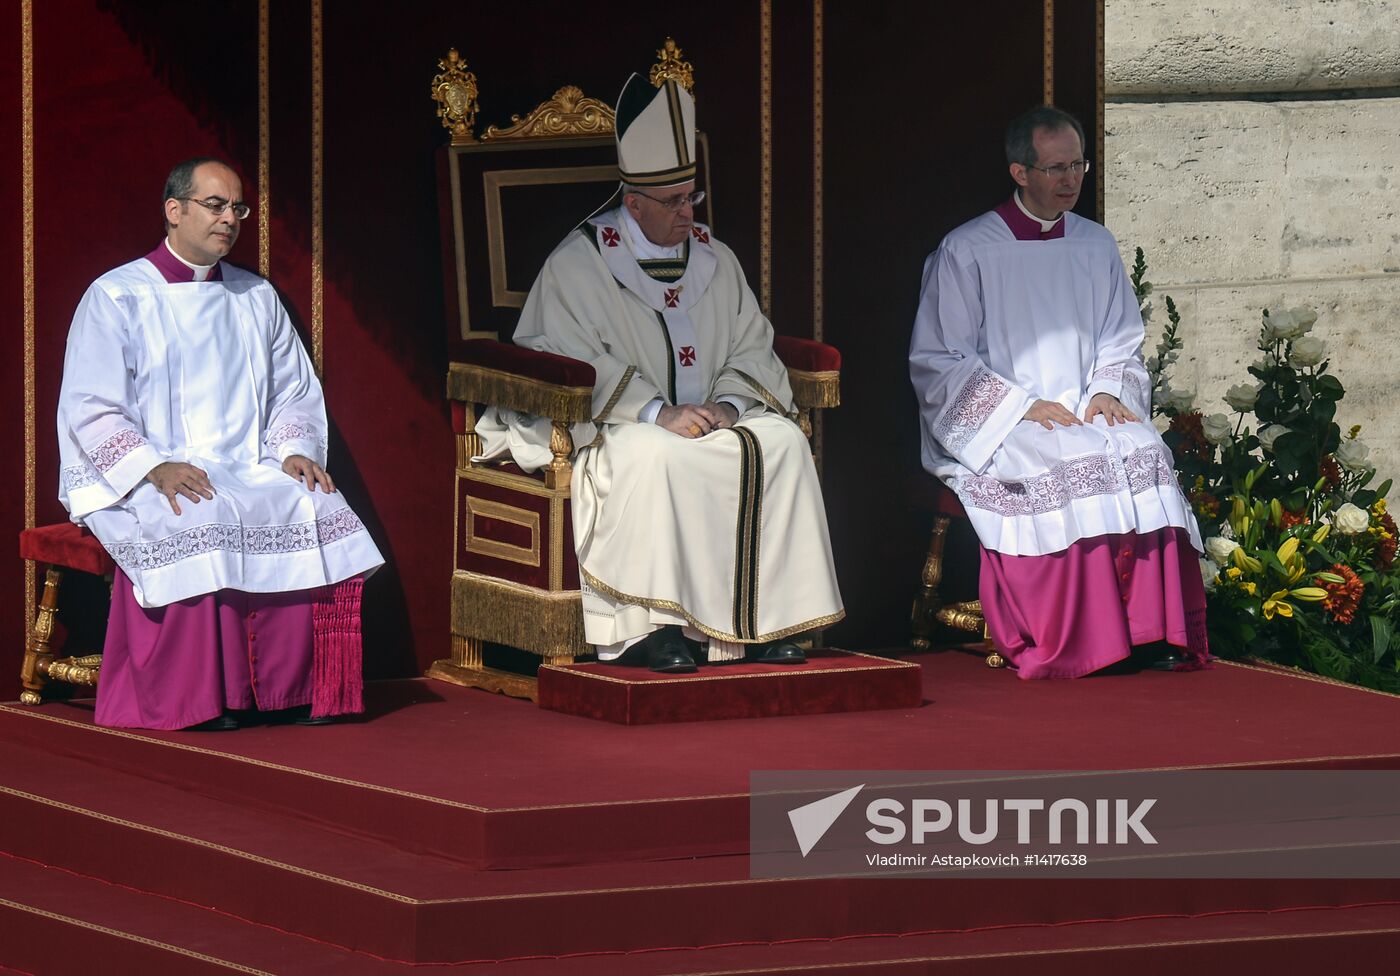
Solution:
{"label": "man in white surplice and magenta cassock seated beside the flowers", "polygon": [[[1016,189],[924,265],[910,344],[924,466],[981,541],[981,605],[1022,678],[1207,654],[1200,532],[1151,424],[1142,316],[1113,235],[1070,210],[1084,130],[1011,123]],[[1173,650],[1175,648],[1175,650]]]}

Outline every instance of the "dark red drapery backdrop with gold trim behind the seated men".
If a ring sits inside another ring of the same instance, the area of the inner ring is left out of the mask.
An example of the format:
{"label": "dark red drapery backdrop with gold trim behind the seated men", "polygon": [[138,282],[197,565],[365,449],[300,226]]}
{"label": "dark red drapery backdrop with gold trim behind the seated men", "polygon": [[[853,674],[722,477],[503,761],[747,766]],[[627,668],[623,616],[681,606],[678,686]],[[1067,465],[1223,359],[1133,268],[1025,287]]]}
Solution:
{"label": "dark red drapery backdrop with gold trim behind the seated men", "polygon": [[[1056,4],[1056,83],[1092,123],[1098,3]],[[259,133],[259,15],[270,94]],[[764,18],[771,118],[760,112]],[[25,32],[32,136],[25,136]],[[3,209],[0,319],[7,400],[0,538],[34,515],[59,521],[53,414],[69,321],[87,284],[146,253],[161,234],[160,188],[193,154],[227,157],[258,195],[266,151],[270,277],[311,344],[316,321],[312,160],[321,148],[325,385],[332,470],[389,559],[365,591],[370,676],[407,675],[448,653],[452,437],[434,151],[445,132],[428,81],[456,46],[482,88],[480,125],[505,123],[563,84],[610,101],[666,35],[696,66],[699,120],[714,153],[717,224],[760,287],[764,132],[771,158],[771,312],[780,332],[841,347],[844,405],[826,421],[827,510],[850,612],[846,647],[906,636],[925,525],[892,504],[917,470],[904,349],[924,255],[958,221],[1008,192],[1000,129],[1040,98],[1043,0],[958,8],[914,0],[861,4],[720,0],[685,17],[636,0],[412,8],[312,0],[17,0],[0,22]],[[321,60],[319,133],[314,60]],[[820,39],[823,132],[813,134],[813,42]],[[319,137],[319,143],[318,143]],[[813,153],[823,167],[820,228]],[[34,231],[20,220],[34,167]],[[1092,207],[1085,195],[1082,207]],[[580,214],[582,216],[582,214]],[[259,263],[256,221],[232,259]],[[825,251],[813,290],[818,234]],[[32,371],[24,266],[32,259]],[[818,304],[818,301],[820,304]],[[25,374],[35,421],[27,433]],[[32,468],[25,444],[34,445]],[[27,622],[24,570],[0,548],[7,644],[0,699],[18,690]]]}

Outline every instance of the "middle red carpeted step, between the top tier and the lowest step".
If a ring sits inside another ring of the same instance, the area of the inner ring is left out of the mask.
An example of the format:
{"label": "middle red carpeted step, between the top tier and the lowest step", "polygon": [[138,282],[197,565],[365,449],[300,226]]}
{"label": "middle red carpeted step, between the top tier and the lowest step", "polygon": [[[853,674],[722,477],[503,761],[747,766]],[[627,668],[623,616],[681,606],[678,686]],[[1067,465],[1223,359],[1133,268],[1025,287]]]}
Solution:
{"label": "middle red carpeted step, between the top tier and the lowest step", "polygon": [[[1338,906],[1394,881],[749,881],[717,857],[470,871],[0,744],[0,844],[43,864],[412,962]],[[561,826],[570,830],[567,825]],[[585,832],[574,832],[580,844]]]}

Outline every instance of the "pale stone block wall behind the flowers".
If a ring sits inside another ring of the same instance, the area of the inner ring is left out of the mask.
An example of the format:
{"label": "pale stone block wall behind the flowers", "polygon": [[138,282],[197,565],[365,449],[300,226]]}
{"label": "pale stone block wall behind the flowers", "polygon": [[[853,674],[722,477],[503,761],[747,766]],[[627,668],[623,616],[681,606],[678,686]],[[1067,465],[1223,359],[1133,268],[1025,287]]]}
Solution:
{"label": "pale stone block wall behind the flowers", "polygon": [[[1183,314],[1205,413],[1261,308],[1312,305],[1337,420],[1400,479],[1400,0],[1106,0],[1105,217]],[[1379,480],[1379,479],[1378,479]]]}

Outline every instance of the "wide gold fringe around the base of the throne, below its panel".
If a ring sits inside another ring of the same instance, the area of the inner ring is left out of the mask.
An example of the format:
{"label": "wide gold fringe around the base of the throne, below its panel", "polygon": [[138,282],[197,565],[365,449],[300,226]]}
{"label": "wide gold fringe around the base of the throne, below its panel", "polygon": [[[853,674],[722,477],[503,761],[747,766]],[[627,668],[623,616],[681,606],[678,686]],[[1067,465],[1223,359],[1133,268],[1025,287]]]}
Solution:
{"label": "wide gold fringe around the base of the throne, below its panel", "polygon": [[588,653],[577,590],[550,592],[465,570],[452,574],[452,633],[540,657]]}

